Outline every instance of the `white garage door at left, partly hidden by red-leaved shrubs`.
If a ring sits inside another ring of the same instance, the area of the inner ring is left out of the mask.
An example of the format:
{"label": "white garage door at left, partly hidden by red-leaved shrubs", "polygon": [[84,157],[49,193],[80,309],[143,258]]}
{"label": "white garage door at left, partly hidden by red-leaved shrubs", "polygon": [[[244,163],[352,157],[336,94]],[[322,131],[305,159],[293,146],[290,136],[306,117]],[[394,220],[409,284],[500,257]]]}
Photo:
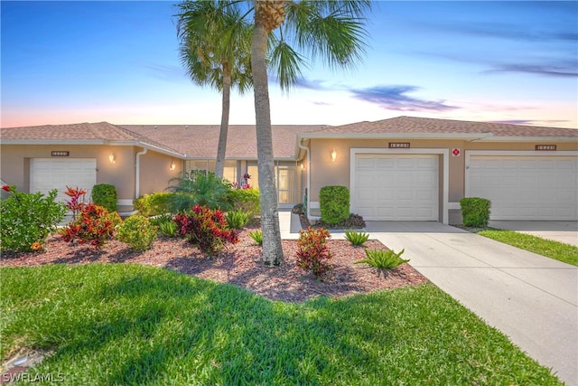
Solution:
{"label": "white garage door at left, partly hidden by red-leaved shrubs", "polygon": [[87,189],[86,201],[89,201],[92,187],[97,184],[97,160],[91,158],[51,159],[33,158],[30,160],[30,192],[48,193],[58,190],[57,201],[70,199],[64,194],[66,186]]}

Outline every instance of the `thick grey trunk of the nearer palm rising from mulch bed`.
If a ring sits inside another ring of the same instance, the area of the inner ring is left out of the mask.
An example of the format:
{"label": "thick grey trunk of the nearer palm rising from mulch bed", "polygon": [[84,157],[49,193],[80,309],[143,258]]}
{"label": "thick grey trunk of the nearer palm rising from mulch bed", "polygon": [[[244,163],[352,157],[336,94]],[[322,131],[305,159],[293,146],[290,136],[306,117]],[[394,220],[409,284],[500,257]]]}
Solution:
{"label": "thick grey trunk of the nearer palm rising from mulch bed", "polygon": [[261,196],[262,259],[267,266],[277,266],[283,262],[283,248],[277,212],[271,111],[265,61],[268,33],[265,24],[256,17],[251,45],[251,67],[255,92],[256,151]]}

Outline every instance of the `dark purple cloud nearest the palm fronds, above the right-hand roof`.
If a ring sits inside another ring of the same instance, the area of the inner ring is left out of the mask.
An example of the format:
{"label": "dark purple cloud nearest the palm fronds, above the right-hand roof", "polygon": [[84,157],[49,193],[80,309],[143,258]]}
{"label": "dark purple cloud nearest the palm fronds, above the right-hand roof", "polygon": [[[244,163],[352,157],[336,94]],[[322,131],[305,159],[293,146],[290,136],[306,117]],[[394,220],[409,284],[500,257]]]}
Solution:
{"label": "dark purple cloud nearest the palm fronds, above the right-hand roof", "polygon": [[406,93],[419,89],[410,85],[376,86],[368,89],[351,89],[355,99],[375,103],[381,108],[397,111],[447,111],[458,108],[444,100],[424,100],[408,97]]}

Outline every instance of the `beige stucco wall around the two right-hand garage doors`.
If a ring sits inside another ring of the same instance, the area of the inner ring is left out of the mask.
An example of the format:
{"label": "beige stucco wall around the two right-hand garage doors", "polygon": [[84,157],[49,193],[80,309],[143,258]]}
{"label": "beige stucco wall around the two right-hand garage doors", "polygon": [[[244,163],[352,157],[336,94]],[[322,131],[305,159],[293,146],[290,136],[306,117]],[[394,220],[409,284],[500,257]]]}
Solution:
{"label": "beige stucco wall around the two right-hand garage doors", "polygon": [[[534,151],[536,145],[556,145],[560,151],[577,151],[578,141],[556,142],[551,140],[538,142],[471,142],[464,140],[431,140],[431,139],[312,139],[309,142],[311,151],[311,186],[310,197],[312,202],[319,202],[319,192],[326,185],[350,186],[350,149],[377,148],[387,149],[389,142],[409,142],[411,149],[447,149],[448,156],[448,202],[449,207],[460,202],[465,192],[465,159],[468,150],[508,150]],[[461,151],[459,156],[452,155],[452,149]],[[331,161],[331,152],[335,150],[337,157]],[[399,150],[402,151],[402,150]],[[556,151],[548,152],[556,155]],[[440,157],[439,186],[440,200],[443,197],[443,155]],[[443,202],[440,202],[440,219],[443,218]],[[314,206],[314,205],[313,205]],[[461,222],[460,210],[450,209],[450,223]]]}

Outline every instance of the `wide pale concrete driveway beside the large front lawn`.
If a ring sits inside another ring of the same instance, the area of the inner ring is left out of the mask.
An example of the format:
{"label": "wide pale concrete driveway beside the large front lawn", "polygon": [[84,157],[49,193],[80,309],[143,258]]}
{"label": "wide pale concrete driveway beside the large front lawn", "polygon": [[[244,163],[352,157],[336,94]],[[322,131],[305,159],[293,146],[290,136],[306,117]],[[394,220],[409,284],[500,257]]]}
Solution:
{"label": "wide pale concrete driveway beside the large front lawn", "polygon": [[388,248],[406,249],[404,258],[433,284],[578,385],[577,267],[439,222],[368,221],[366,229]]}

